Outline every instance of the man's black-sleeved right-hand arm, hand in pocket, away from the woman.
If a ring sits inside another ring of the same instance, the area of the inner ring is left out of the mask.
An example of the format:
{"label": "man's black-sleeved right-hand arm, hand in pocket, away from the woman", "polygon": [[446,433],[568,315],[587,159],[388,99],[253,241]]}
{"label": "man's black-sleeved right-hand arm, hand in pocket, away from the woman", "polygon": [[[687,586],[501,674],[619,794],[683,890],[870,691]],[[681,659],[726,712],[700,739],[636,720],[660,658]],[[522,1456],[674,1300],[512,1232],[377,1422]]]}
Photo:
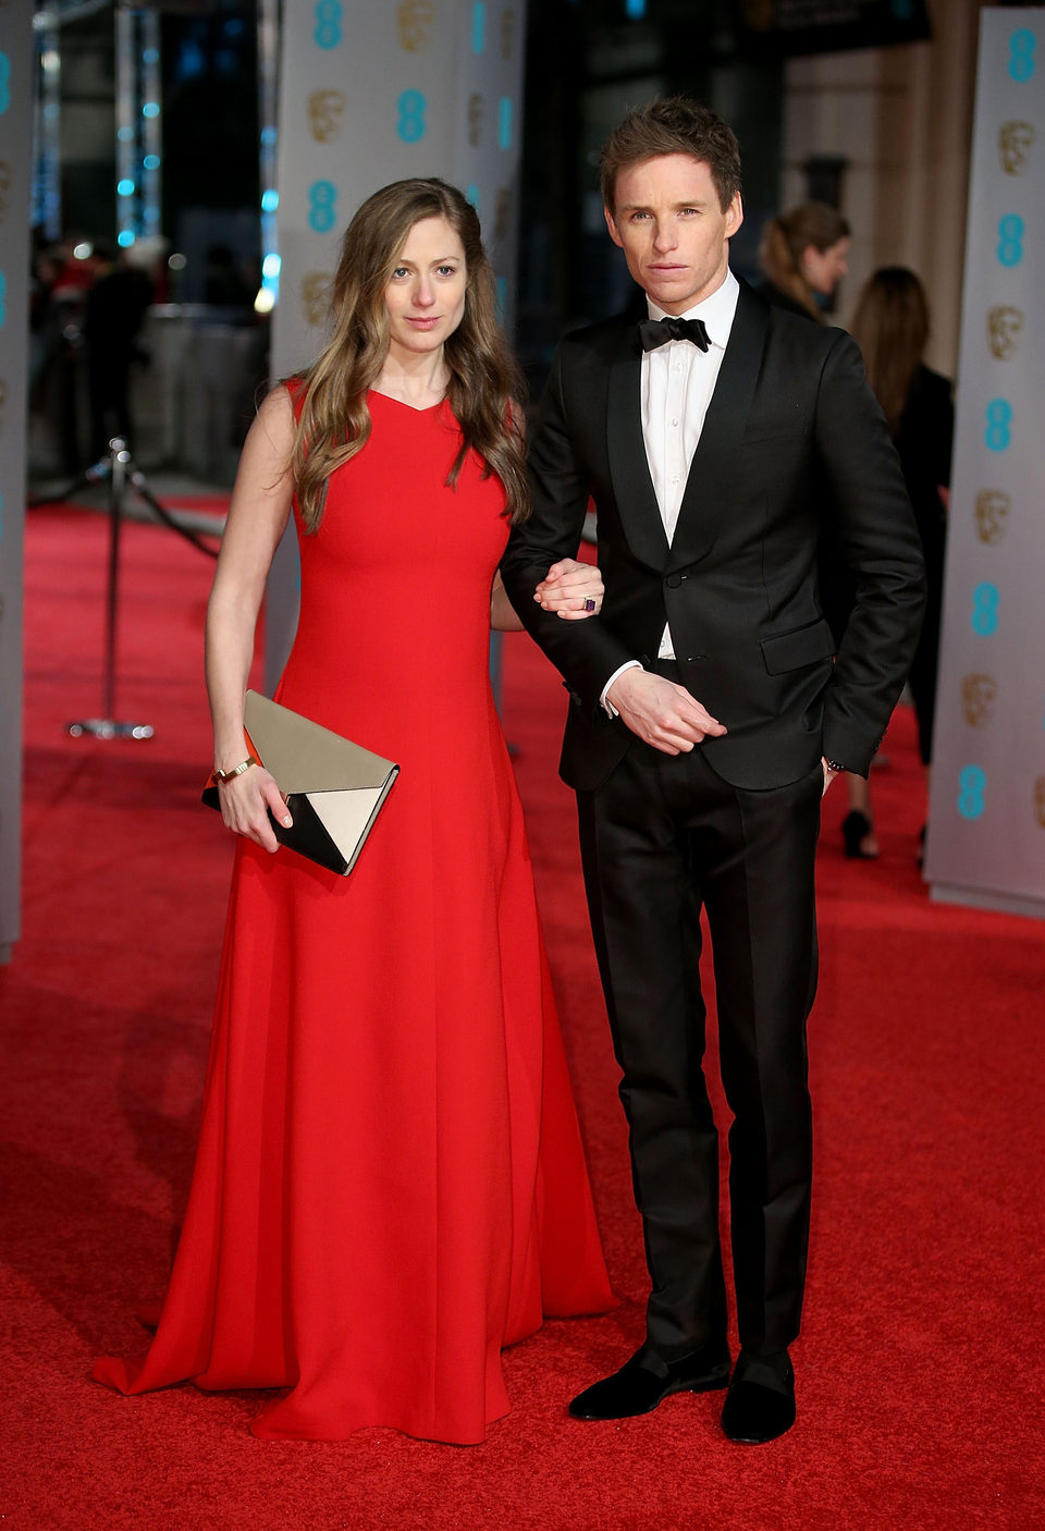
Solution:
{"label": "man's black-sleeved right-hand arm, hand in pocket, away from the woman", "polygon": [[926,603],[900,459],[855,341],[838,332],[817,398],[826,514],[855,599],[825,698],[823,753],[866,775],[907,678]]}

